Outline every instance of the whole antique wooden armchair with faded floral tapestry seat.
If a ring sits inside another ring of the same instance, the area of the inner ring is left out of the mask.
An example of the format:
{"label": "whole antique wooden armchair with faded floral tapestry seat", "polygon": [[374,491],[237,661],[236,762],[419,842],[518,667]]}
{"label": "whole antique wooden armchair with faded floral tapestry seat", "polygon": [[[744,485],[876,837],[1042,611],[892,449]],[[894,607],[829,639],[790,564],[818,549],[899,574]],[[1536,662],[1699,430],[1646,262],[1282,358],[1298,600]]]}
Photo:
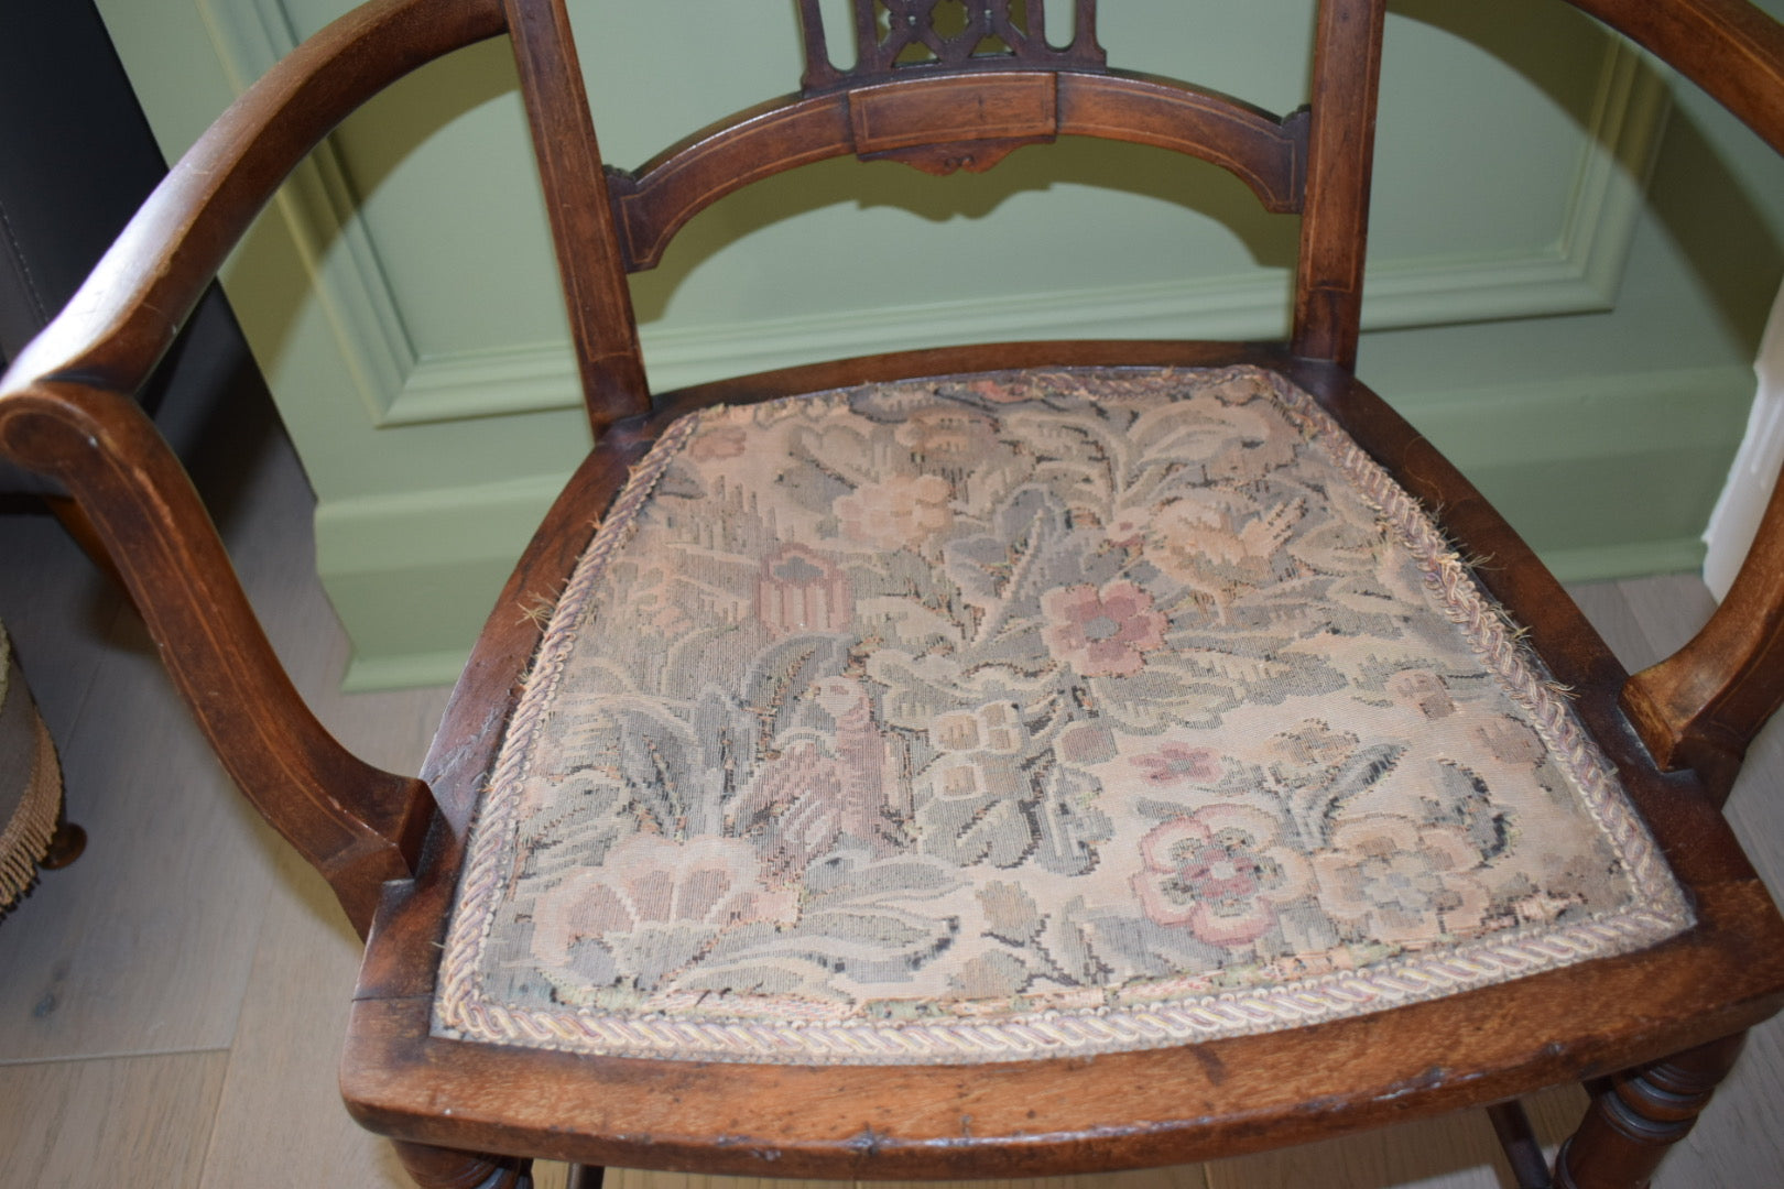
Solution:
{"label": "whole antique wooden armchair with faded floral tapestry seat", "polygon": [[[1784,150],[1768,16],[1575,2]],[[797,93],[623,173],[560,0],[376,0],[212,127],[7,374],[0,451],[80,501],[368,938],[350,1111],[423,1185],[512,1185],[530,1157],[1113,1169],[1484,1105],[1538,1185],[1515,1100],[1590,1080],[1554,1184],[1645,1184],[1784,1002],[1784,920],[1718,811],[1784,695],[1784,494],[1709,626],[1625,674],[1352,376],[1383,0],[1320,5],[1284,118],[1110,68],[1094,0],[1065,45],[1061,5],[942,7],[826,30],[801,0]],[[328,128],[501,34],[596,446],[412,779],[300,704],[128,394]],[[1299,212],[1293,337],[648,390],[626,275],[705,205],[1058,135]]]}

